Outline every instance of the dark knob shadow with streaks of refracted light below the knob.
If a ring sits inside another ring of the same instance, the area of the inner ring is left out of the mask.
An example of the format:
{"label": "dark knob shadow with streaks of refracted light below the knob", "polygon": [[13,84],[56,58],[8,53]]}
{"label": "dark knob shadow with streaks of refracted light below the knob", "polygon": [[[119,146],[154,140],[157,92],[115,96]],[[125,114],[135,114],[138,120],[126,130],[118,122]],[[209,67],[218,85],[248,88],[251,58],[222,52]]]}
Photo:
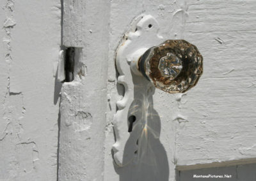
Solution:
{"label": "dark knob shadow with streaks of refracted light below the knob", "polygon": [[[135,77],[135,78],[134,78]],[[169,165],[166,151],[159,140],[161,132],[161,120],[154,110],[154,103],[152,95],[155,92],[155,87],[141,87],[145,86],[144,78],[133,76],[134,82],[134,101],[129,108],[130,115],[136,115],[140,121],[134,122],[133,129],[139,130],[137,140],[138,150],[134,153],[134,159],[122,168],[115,166],[115,171],[120,177],[120,181],[165,181],[169,178]],[[141,91],[142,90],[142,91]],[[145,93],[143,92],[147,92]],[[127,127],[128,129],[128,127]],[[135,131],[135,130],[134,130]],[[138,134],[137,134],[138,135]],[[129,140],[125,143],[124,148],[124,163],[128,163],[125,155],[128,155],[129,144],[132,138],[130,134]]]}

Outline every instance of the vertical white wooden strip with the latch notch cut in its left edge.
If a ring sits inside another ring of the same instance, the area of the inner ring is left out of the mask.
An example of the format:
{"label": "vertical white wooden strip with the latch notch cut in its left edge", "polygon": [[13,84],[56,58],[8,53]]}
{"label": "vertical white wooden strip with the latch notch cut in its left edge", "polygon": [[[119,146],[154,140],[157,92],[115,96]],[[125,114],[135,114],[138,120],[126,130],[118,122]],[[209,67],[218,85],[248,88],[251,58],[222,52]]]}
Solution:
{"label": "vertical white wooden strip with the latch notch cut in its left edge", "polygon": [[63,45],[82,48],[86,72],[61,89],[59,180],[103,180],[109,8],[108,1],[63,1]]}

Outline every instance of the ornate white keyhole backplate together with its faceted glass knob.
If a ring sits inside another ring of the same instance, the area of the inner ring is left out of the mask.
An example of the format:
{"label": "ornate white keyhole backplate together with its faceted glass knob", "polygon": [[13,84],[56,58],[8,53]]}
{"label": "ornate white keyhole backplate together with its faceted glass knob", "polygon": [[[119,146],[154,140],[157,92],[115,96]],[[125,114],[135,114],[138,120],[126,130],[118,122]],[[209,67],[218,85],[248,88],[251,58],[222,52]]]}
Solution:
{"label": "ornate white keyhole backplate together with its faceted glass knob", "polygon": [[118,166],[140,159],[138,150],[145,145],[141,138],[150,134],[159,139],[160,119],[152,100],[155,87],[168,93],[186,92],[203,73],[203,58],[195,45],[185,40],[163,42],[151,15],[141,15],[134,24],[116,50],[118,83],[125,89],[113,121],[113,157]]}

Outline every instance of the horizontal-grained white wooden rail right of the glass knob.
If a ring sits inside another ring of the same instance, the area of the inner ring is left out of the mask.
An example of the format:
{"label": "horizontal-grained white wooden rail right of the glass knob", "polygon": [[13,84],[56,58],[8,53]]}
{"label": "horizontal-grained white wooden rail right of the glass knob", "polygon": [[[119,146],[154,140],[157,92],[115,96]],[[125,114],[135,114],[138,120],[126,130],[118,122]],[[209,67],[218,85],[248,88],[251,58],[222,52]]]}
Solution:
{"label": "horizontal-grained white wooden rail right of the glass knob", "polygon": [[255,158],[256,1],[187,6],[184,34],[204,55],[204,75],[179,103],[188,122],[177,125],[177,165]]}

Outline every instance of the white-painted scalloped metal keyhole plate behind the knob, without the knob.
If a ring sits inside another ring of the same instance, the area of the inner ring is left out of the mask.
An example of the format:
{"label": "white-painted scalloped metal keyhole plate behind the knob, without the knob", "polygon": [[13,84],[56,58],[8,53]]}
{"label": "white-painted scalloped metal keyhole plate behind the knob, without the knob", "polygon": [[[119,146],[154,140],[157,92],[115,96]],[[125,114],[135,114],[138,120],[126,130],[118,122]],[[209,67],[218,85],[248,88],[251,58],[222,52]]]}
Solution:
{"label": "white-painted scalloped metal keyhole plate behind the knob, without the knob", "polygon": [[[116,103],[118,111],[113,122],[116,136],[113,152],[118,166],[136,162],[141,136],[147,134],[148,110],[152,108],[154,85],[141,75],[136,62],[148,48],[163,42],[158,35],[159,25],[151,15],[140,15],[132,27],[116,51],[118,83],[125,88],[124,98]],[[131,116],[135,121],[129,133]]]}

